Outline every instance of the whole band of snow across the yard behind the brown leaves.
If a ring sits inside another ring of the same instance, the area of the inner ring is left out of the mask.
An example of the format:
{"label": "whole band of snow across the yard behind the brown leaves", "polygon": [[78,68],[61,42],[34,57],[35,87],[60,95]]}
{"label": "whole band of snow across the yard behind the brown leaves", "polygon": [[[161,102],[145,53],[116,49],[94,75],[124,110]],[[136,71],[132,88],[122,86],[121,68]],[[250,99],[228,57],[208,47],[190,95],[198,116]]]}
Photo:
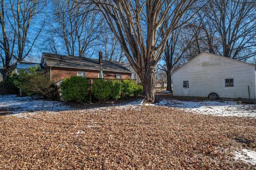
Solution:
{"label": "whole band of snow across the yard behind the brown leaves", "polygon": [[[141,110],[143,100],[136,100],[126,104],[114,104],[111,107],[94,108],[92,110],[110,110],[111,108],[138,109]],[[146,104],[146,106],[166,106],[182,109],[197,114],[217,115],[217,116],[242,116],[256,117],[255,104],[236,104],[234,101],[180,101],[162,100],[156,104]],[[25,114],[26,112],[36,111],[65,111],[74,108],[65,106],[59,101],[35,100],[29,96],[17,97],[15,95],[0,95],[0,109],[9,110],[12,114]],[[80,110],[81,112],[85,110]]]}

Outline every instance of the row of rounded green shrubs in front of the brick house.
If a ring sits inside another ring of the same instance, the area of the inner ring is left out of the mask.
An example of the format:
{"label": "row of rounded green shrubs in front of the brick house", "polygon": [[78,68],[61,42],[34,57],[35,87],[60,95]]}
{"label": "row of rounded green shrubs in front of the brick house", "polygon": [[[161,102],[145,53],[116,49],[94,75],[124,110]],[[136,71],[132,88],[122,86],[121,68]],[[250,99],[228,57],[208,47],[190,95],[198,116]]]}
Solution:
{"label": "row of rounded green shrubs in front of the brick house", "polygon": [[[62,81],[60,90],[62,96],[68,101],[84,102],[89,93],[89,80],[84,77],[69,77]],[[142,86],[133,80],[106,80],[94,79],[92,83],[92,95],[100,102],[118,100],[121,96],[129,98],[142,94]]]}

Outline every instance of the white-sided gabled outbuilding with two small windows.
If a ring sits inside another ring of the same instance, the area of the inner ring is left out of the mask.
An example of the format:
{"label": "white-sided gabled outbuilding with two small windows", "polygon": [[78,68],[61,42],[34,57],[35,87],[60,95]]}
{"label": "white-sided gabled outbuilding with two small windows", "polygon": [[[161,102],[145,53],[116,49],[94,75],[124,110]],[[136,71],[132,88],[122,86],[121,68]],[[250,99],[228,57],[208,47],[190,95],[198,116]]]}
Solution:
{"label": "white-sided gabled outbuilding with two small windows", "polygon": [[255,64],[203,52],[173,72],[173,95],[256,99]]}

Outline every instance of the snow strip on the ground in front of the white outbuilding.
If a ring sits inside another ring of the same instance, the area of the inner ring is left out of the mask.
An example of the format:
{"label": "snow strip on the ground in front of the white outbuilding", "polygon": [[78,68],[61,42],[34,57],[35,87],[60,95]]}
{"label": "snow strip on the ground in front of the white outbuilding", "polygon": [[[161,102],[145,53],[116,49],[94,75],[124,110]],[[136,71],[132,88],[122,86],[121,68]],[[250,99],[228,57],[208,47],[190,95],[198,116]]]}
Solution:
{"label": "snow strip on the ground in front of the white outbuilding", "polygon": [[180,101],[162,100],[156,106],[168,106],[190,112],[217,116],[256,117],[255,104],[237,104],[235,101]]}

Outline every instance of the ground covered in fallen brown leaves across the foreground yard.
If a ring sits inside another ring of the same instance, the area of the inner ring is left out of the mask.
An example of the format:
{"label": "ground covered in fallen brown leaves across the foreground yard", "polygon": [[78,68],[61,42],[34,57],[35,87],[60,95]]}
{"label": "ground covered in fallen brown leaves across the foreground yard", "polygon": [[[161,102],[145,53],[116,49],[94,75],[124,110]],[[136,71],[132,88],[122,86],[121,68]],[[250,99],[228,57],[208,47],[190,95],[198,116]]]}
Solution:
{"label": "ground covered in fallen brown leaves across the foreground yard", "polygon": [[[1,112],[0,112],[1,114]],[[0,116],[0,169],[256,169],[256,119],[113,107]]]}

